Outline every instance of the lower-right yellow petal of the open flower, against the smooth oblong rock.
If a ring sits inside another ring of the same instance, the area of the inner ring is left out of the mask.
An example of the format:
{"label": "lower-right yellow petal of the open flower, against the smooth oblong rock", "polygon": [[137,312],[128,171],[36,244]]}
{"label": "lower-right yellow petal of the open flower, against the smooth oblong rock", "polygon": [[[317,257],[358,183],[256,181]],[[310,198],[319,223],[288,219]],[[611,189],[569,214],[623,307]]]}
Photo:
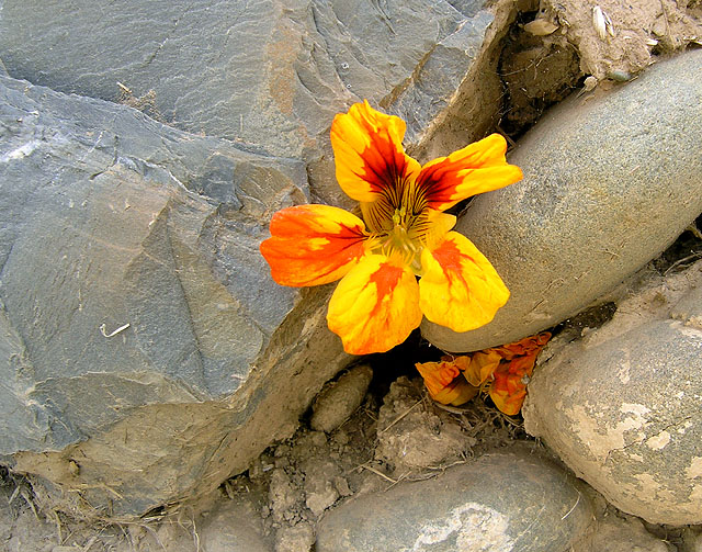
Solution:
{"label": "lower-right yellow petal of the open flower, against the smooth oblong rock", "polygon": [[509,298],[492,264],[457,232],[426,248],[421,264],[419,306],[429,320],[454,331],[484,326]]}

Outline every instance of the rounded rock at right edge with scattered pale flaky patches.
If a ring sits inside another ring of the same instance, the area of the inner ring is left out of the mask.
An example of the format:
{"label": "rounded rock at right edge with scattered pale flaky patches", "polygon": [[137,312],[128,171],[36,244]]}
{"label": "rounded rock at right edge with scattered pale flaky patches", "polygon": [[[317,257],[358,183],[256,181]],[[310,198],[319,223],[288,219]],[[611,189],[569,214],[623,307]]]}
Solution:
{"label": "rounded rock at right edge with scattered pale flaky patches", "polygon": [[702,523],[702,330],[659,316],[680,282],[702,284],[702,263],[683,277],[633,295],[605,326],[555,352],[522,409],[526,430],[577,475],[653,523]]}

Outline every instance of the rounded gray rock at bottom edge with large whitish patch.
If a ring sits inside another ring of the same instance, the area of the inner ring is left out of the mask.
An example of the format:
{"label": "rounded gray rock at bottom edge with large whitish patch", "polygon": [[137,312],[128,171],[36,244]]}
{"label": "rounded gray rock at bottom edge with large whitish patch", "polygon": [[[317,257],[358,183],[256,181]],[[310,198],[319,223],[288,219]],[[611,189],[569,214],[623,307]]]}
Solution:
{"label": "rounded gray rock at bottom edge with large whitish patch", "polygon": [[333,509],[316,550],[565,552],[591,518],[575,478],[517,448]]}

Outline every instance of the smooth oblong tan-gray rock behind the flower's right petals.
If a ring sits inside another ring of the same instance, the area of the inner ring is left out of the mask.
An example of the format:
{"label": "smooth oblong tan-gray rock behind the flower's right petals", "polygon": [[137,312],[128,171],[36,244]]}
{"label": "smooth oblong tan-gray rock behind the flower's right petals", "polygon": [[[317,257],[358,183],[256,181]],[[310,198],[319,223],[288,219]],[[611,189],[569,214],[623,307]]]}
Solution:
{"label": "smooth oblong tan-gray rock behind the flower's right petals", "polygon": [[514,341],[575,315],[656,257],[702,211],[702,52],[657,64],[609,93],[550,112],[510,162],[522,182],[478,196],[456,228],[511,291],[495,319],[449,351]]}

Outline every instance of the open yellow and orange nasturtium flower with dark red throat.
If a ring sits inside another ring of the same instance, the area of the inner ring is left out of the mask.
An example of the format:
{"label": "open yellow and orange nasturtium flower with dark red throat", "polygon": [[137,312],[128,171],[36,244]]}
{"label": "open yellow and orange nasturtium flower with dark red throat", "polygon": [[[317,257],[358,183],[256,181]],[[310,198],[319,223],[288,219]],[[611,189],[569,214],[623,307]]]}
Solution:
{"label": "open yellow and orange nasturtium flower with dark red throat", "polygon": [[[489,323],[509,297],[490,262],[444,213],[522,178],[492,134],[423,167],[403,147],[405,122],[367,101],[338,114],[331,146],[341,189],[362,218],[329,205],[296,205],[271,219],[261,254],[282,285],[341,279],[327,314],[347,352],[384,352],[422,315],[454,331]],[[419,282],[417,279],[420,278]]]}

